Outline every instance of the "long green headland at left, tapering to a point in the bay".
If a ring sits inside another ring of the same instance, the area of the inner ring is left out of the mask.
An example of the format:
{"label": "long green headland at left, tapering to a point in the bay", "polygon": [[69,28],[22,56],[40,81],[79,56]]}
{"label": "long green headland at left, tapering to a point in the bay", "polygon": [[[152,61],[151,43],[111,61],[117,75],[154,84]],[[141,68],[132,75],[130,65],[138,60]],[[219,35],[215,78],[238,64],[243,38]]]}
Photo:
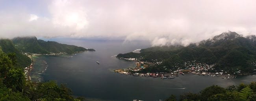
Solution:
{"label": "long green headland at left, tapering to a point in the bay", "polygon": [[23,52],[31,52],[38,54],[49,54],[49,53],[74,53],[80,51],[95,51],[94,49],[85,49],[83,47],[77,47],[74,45],[61,44],[55,41],[43,41],[37,40],[33,37],[17,37],[12,39],[15,47]]}

